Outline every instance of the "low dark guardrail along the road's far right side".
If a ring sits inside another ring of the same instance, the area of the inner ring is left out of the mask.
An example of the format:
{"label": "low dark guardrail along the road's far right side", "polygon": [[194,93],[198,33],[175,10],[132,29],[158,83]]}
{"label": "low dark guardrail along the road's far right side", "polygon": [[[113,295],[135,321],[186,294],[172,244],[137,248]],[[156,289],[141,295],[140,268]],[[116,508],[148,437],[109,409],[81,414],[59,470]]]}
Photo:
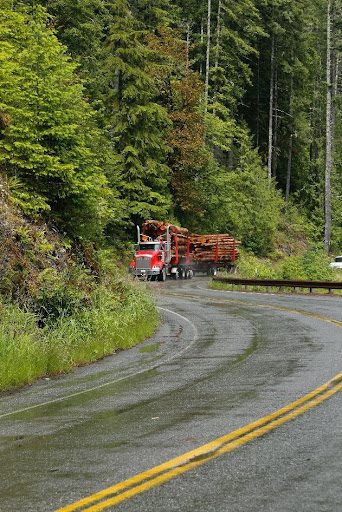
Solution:
{"label": "low dark guardrail along the road's far right side", "polygon": [[310,293],[316,288],[323,288],[331,293],[331,290],[342,290],[342,281],[293,281],[286,279],[241,279],[239,277],[214,276],[213,281],[232,285],[265,286],[273,288],[308,288]]}

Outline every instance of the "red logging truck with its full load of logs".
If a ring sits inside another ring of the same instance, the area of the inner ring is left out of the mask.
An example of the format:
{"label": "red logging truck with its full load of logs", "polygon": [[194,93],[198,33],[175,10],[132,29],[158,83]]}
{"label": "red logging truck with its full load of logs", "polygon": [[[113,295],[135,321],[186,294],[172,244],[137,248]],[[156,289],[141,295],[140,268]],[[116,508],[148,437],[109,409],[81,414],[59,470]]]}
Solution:
{"label": "red logging truck with its full load of logs", "polygon": [[234,268],[239,244],[227,234],[190,235],[186,228],[148,220],[141,229],[137,226],[129,270],[152,281],[191,279],[198,272],[215,275],[218,268]]}

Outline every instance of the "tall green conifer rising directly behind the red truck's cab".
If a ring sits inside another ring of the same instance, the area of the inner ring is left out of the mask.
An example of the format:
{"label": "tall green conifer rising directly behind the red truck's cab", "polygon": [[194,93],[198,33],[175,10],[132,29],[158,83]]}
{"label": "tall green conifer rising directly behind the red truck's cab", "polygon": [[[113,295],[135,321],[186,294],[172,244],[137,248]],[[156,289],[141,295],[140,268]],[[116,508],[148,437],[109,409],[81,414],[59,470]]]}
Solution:
{"label": "tall green conifer rising directly behind the red truck's cab", "polygon": [[117,153],[125,210],[134,222],[163,217],[170,208],[165,133],[169,120],[156,103],[157,90],[150,69],[154,52],[145,42],[126,0],[111,6],[106,73],[110,136]]}

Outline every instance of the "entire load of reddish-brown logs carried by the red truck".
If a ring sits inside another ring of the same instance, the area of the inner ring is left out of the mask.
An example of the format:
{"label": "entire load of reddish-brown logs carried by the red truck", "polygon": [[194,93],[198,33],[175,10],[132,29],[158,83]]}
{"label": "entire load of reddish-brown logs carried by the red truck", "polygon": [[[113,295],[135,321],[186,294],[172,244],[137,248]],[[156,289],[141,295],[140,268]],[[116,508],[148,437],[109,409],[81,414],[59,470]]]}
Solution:
{"label": "entire load of reddish-brown logs carried by the red truck", "polygon": [[166,224],[159,220],[147,220],[142,225],[142,237],[147,240],[158,238],[165,240],[169,226],[170,234],[177,235],[179,255],[185,255],[190,239],[190,253],[193,261],[234,261],[239,255],[238,246],[241,242],[234,240],[228,234],[217,235],[189,235],[186,228],[180,228],[172,224]]}

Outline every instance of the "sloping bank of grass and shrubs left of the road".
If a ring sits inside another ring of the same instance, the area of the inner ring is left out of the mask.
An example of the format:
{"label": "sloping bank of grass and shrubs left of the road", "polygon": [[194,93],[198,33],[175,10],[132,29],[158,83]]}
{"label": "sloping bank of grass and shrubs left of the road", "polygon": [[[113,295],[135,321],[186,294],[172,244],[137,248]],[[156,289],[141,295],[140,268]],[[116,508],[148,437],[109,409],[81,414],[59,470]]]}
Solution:
{"label": "sloping bank of grass and shrubs left of the road", "polygon": [[152,297],[94,251],[0,207],[0,390],[70,371],[153,334]]}

